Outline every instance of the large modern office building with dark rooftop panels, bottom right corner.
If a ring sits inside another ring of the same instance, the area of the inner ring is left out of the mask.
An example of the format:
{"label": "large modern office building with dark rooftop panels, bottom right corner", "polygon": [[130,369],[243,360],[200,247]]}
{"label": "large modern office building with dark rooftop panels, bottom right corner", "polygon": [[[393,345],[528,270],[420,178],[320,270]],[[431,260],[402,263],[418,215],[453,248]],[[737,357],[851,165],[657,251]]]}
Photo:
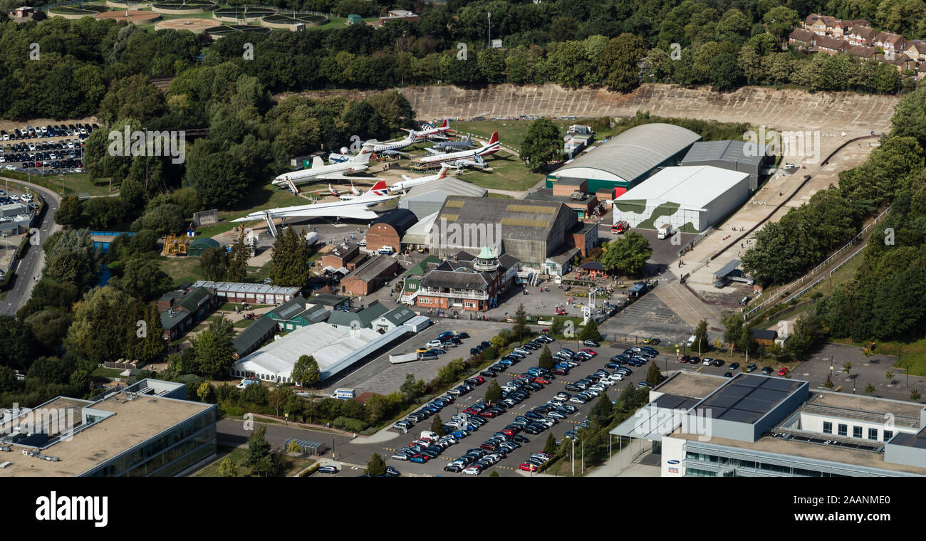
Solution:
{"label": "large modern office building with dark rooftop panels, bottom right corner", "polygon": [[687,371],[649,398],[611,434],[652,442],[662,476],[926,475],[922,404],[811,390],[783,377]]}

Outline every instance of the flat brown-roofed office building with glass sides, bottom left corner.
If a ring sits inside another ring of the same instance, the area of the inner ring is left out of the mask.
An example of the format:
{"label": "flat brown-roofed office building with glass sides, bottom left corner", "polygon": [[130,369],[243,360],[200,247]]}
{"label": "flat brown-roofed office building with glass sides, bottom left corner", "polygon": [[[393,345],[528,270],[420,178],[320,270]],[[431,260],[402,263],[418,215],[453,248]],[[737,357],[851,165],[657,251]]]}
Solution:
{"label": "flat brown-roofed office building with glass sides, bottom left corner", "polygon": [[99,400],[57,397],[6,412],[0,478],[162,477],[216,455],[217,406],[186,400],[186,385],[143,379]]}

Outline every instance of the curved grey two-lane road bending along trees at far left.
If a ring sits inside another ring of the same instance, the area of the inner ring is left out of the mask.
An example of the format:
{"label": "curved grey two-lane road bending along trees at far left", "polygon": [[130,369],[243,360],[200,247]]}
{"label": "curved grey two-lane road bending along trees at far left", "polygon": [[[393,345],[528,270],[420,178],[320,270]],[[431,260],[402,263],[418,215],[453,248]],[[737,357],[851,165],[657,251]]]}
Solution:
{"label": "curved grey two-lane road bending along trees at far left", "polygon": [[26,301],[29,301],[32,288],[35,287],[35,282],[42,276],[42,266],[44,263],[42,244],[48,239],[49,235],[61,228],[61,226],[55,223],[55,215],[58,205],[61,204],[61,197],[56,192],[43,188],[37,184],[32,184],[31,182],[17,180],[16,178],[0,177],[0,182],[5,183],[6,180],[16,182],[21,186],[28,186],[33,193],[38,193],[42,196],[45,204],[48,205],[42,221],[33,226],[39,229],[40,244],[29,246],[22,259],[17,261],[13,266],[13,272],[16,275],[13,277],[13,287],[6,291],[6,298],[3,300],[3,304],[0,304],[0,314],[15,315],[16,311],[19,310]]}

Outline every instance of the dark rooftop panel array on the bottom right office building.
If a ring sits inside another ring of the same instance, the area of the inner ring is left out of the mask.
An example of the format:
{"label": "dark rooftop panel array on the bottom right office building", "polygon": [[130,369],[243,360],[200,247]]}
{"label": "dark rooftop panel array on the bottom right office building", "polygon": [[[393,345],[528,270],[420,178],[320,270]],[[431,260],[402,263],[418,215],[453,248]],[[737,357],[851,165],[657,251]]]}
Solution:
{"label": "dark rooftop panel array on the bottom right office building", "polygon": [[801,383],[779,377],[738,375],[707,397],[698,409],[711,410],[714,419],[755,424],[800,387]]}

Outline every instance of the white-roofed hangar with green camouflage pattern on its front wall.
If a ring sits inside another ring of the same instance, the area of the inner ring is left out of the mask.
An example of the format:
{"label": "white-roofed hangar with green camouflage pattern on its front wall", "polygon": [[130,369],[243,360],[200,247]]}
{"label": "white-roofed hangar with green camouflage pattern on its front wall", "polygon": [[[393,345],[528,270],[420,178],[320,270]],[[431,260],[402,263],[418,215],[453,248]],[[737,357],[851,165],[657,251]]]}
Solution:
{"label": "white-roofed hangar with green camouflage pattern on its front wall", "polygon": [[614,200],[614,223],[698,233],[749,198],[749,174],[714,166],[666,167]]}

